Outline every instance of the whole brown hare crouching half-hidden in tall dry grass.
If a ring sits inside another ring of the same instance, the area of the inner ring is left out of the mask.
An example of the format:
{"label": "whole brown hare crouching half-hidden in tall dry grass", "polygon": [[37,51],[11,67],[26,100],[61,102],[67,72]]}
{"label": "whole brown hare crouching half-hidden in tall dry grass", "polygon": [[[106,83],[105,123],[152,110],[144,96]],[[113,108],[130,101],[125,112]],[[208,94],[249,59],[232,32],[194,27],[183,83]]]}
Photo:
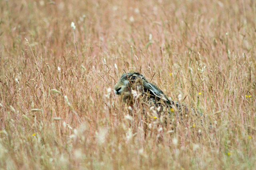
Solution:
{"label": "whole brown hare crouching half-hidden in tall dry grass", "polygon": [[[140,99],[140,101],[142,101],[143,113],[146,116],[148,113],[146,113],[144,109],[146,107],[145,105],[149,105],[150,107],[154,106],[158,118],[160,118],[162,114],[166,117],[176,115],[177,122],[190,127],[188,119],[184,119],[188,113],[190,113],[192,119],[195,120],[199,118],[201,129],[207,124],[209,126],[208,129],[212,129],[212,123],[210,123],[207,115],[203,115],[198,109],[193,107],[188,110],[186,105],[181,105],[178,101],[169,100],[161,89],[148,82],[144,75],[140,73],[123,74],[114,86],[114,92],[116,95],[120,95],[124,103],[130,106],[134,106],[134,101],[139,101]],[[145,129],[146,127],[147,125],[145,125]],[[192,127],[195,127],[195,124],[193,124]],[[201,130],[196,133],[200,136],[200,132]]]}

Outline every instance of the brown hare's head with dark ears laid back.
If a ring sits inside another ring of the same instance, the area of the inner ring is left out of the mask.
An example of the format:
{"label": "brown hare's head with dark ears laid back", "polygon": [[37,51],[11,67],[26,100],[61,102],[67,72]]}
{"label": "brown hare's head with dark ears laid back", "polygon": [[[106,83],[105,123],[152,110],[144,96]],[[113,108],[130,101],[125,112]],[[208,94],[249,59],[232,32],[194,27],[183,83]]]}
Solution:
{"label": "brown hare's head with dark ears laid back", "polygon": [[156,85],[148,82],[144,75],[134,72],[123,74],[114,86],[114,92],[120,95],[124,102],[132,99],[134,91],[142,95],[148,94],[154,101],[163,100],[169,103],[168,98]]}

